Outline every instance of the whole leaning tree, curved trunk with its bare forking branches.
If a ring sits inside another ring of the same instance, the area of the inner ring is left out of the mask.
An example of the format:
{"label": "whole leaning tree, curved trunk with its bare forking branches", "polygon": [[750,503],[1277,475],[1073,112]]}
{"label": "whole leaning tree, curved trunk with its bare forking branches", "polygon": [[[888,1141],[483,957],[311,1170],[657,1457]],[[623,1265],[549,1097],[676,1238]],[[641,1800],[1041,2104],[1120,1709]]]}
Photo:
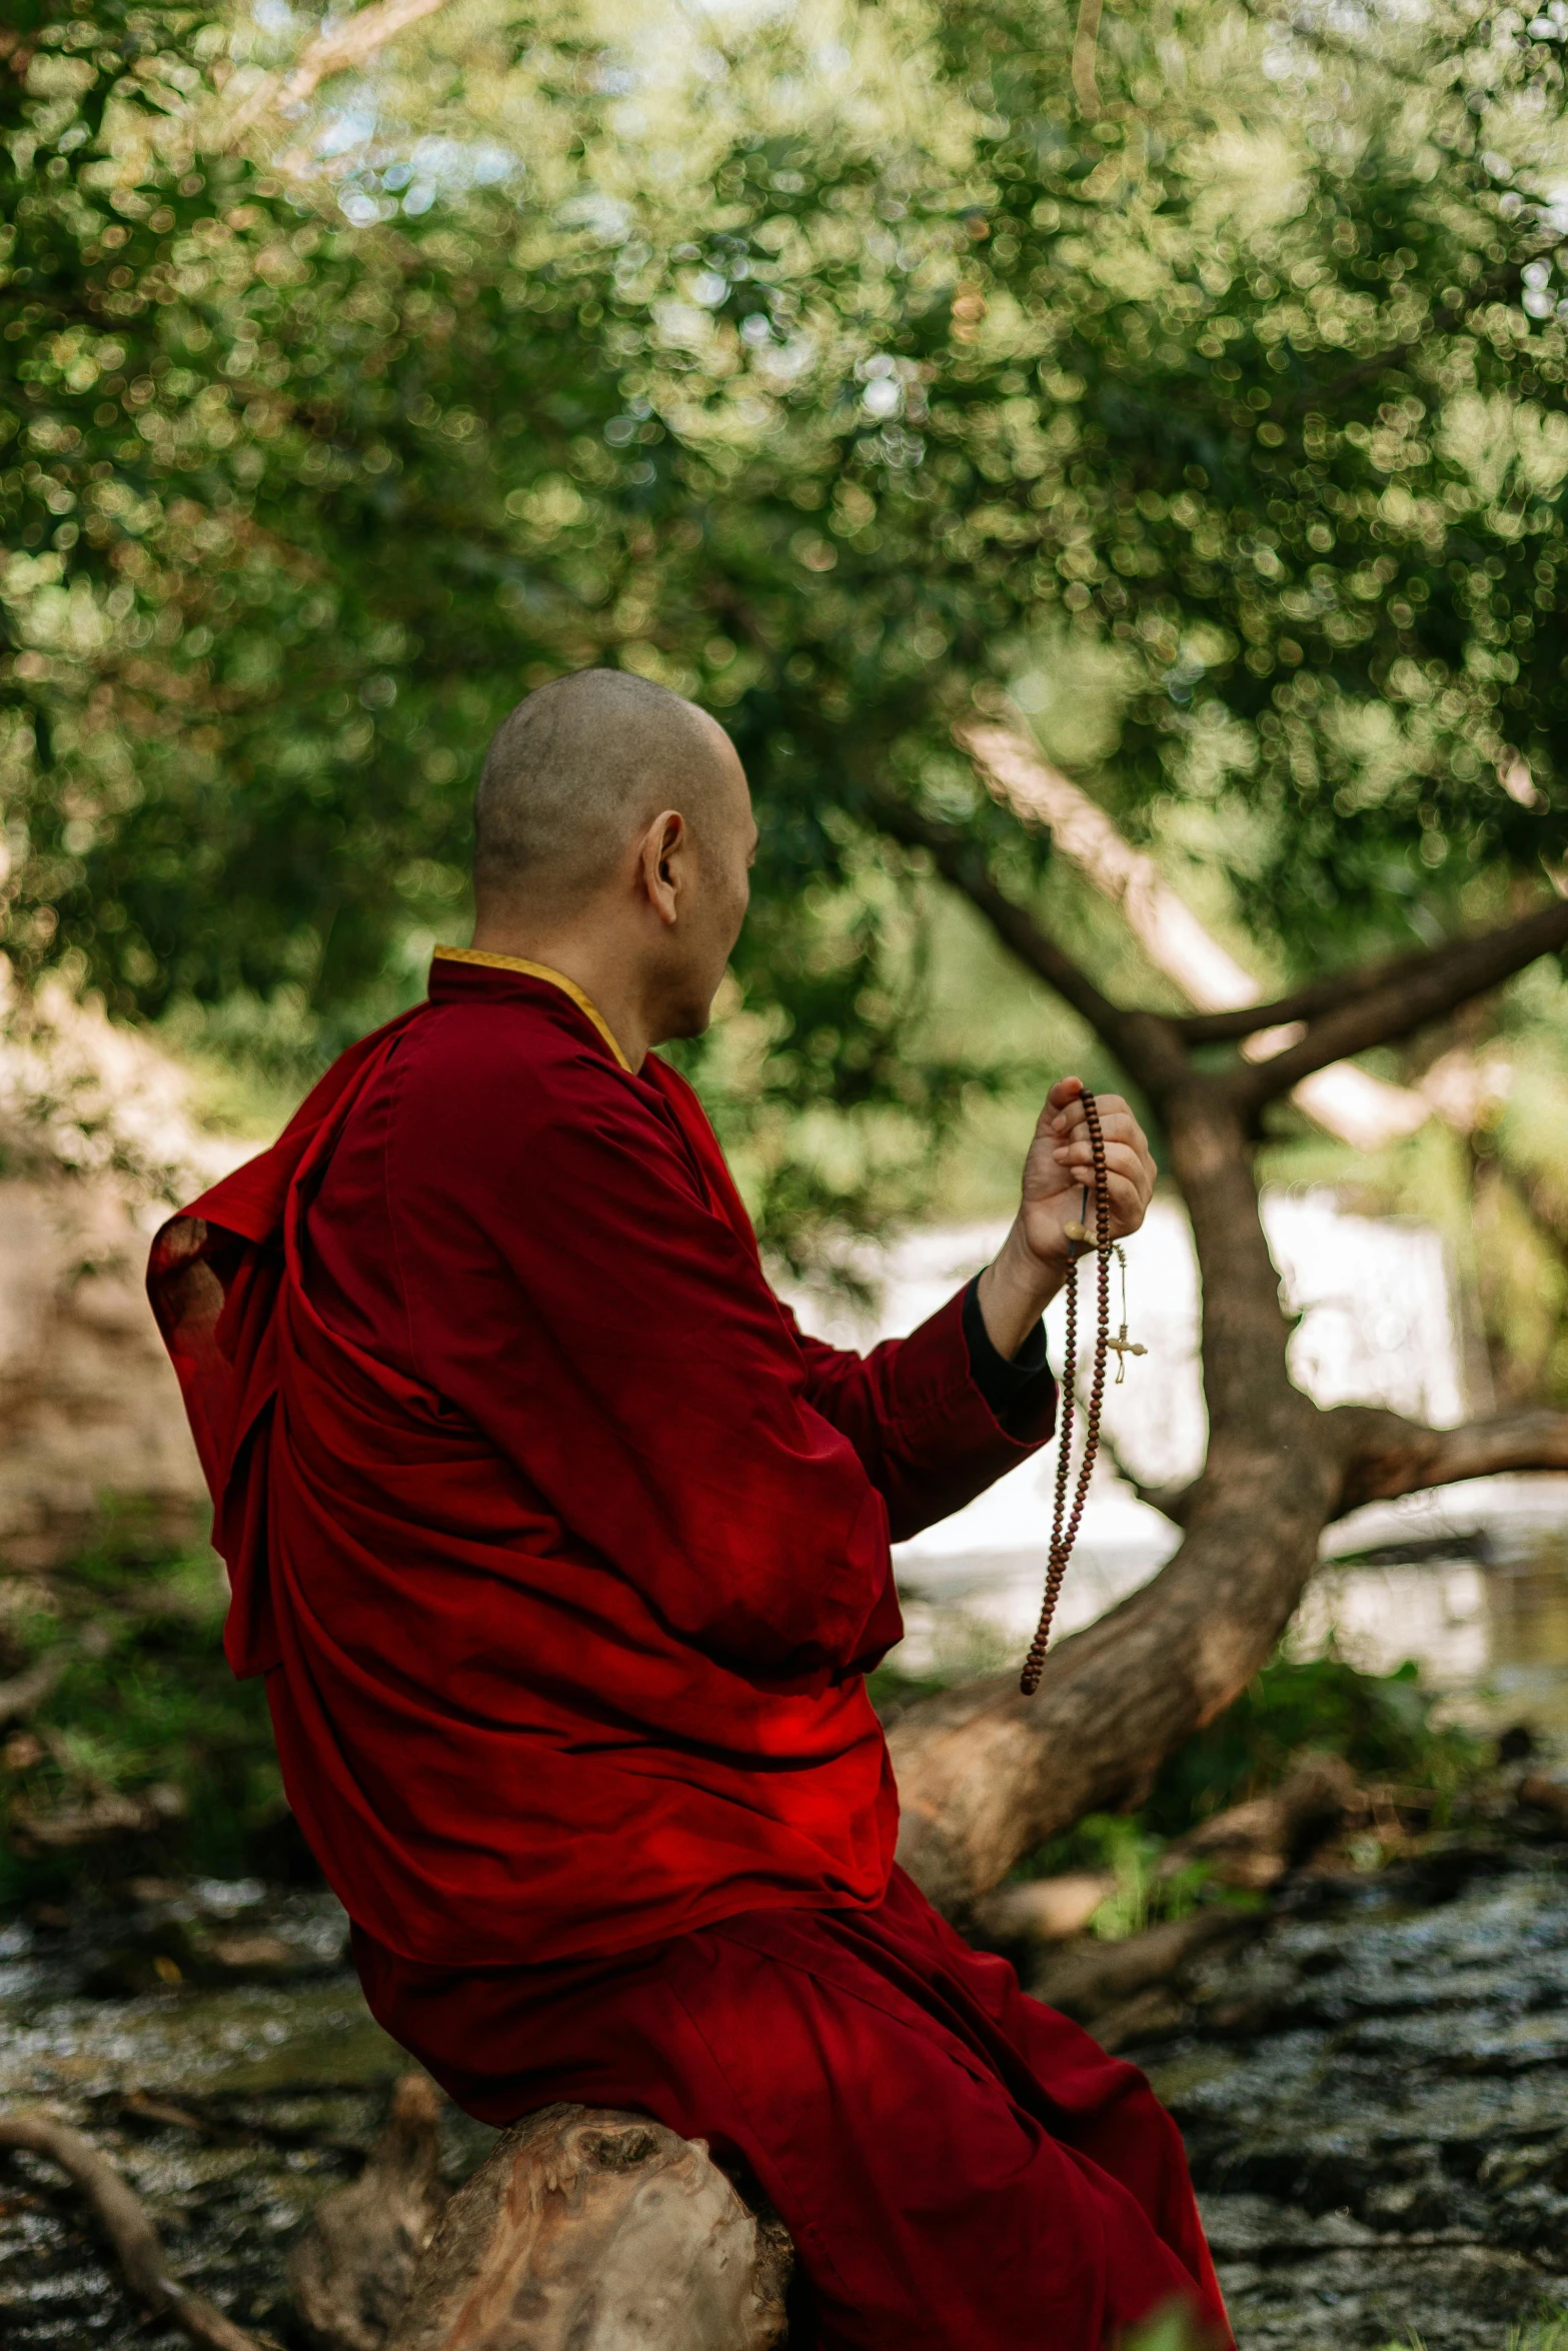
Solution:
{"label": "whole leaning tree, curved trunk with its bare forking branches", "polygon": [[[1006,783],[983,773],[1006,797]],[[1568,1467],[1566,1413],[1427,1429],[1373,1406],[1319,1411],[1302,1396],[1286,1368],[1291,1326],[1251,1166],[1267,1103],[1559,952],[1568,905],[1399,964],[1338,973],[1276,1004],[1173,1018],[1103,997],[1027,907],[1006,898],[957,828],[893,799],[879,802],[877,816],[893,839],[933,860],[1152,1100],[1204,1284],[1208,1458],[1182,1493],[1150,1495],[1182,1526],[1175,1556],[1143,1592],[1051,1650],[1032,1700],[1018,1695],[1013,1676],[983,1676],[912,1704],[891,1730],[900,1860],[938,1909],[961,1916],[1030,1846],[1088,1810],[1135,1801],[1159,1763],[1239,1695],[1288,1625],[1331,1519],[1450,1479]],[[1262,1032],[1279,1032],[1281,1049],[1225,1070],[1192,1060],[1192,1046]]]}

